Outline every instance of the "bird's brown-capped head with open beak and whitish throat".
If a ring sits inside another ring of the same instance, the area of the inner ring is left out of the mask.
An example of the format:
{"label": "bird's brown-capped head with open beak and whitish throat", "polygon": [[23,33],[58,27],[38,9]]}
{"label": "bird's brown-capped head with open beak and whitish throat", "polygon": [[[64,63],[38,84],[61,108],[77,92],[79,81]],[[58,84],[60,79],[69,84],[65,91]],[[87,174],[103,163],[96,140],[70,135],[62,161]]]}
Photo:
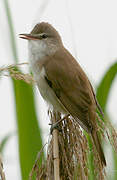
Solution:
{"label": "bird's brown-capped head with open beak and whitish throat", "polygon": [[54,52],[62,45],[61,37],[56,29],[49,23],[35,25],[29,34],[20,34],[20,38],[29,41],[32,51]]}

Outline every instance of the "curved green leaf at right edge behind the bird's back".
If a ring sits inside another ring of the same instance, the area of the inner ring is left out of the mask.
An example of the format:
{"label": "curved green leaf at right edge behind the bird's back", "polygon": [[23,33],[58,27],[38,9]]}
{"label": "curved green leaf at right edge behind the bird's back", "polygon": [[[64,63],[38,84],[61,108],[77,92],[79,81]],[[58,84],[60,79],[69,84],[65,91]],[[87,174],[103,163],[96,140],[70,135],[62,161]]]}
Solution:
{"label": "curved green leaf at right edge behind the bird's back", "polygon": [[112,87],[113,80],[116,77],[116,74],[117,62],[112,64],[112,66],[108,69],[97,88],[97,100],[104,112],[106,110],[109,93]]}

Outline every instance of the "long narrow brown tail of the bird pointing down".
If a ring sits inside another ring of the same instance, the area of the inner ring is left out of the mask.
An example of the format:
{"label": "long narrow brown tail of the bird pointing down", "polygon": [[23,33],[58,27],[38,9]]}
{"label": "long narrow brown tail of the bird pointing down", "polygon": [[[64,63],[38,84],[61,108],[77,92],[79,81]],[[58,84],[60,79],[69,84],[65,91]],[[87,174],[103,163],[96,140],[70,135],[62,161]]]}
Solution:
{"label": "long narrow brown tail of the bird pointing down", "polygon": [[103,150],[102,150],[100,141],[99,141],[98,134],[97,134],[97,132],[95,131],[95,129],[92,130],[91,135],[92,135],[93,142],[94,142],[94,144],[95,144],[96,150],[97,150],[97,152],[98,152],[98,154],[99,154],[99,156],[100,156],[100,160],[101,160],[101,162],[102,162],[102,165],[106,166],[105,156],[104,156],[104,153],[103,153]]}

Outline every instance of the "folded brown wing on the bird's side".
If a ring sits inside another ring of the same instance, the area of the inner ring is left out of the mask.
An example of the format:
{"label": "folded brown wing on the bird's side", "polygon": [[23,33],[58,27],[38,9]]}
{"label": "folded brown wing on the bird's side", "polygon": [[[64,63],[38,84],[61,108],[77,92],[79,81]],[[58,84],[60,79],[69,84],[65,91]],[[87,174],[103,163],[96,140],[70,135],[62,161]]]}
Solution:
{"label": "folded brown wing on the bird's side", "polygon": [[[56,60],[55,60],[56,59]],[[88,111],[92,105],[89,80],[79,64],[66,49],[58,51],[44,65],[46,81],[66,110],[88,132],[92,124]],[[65,71],[64,71],[65,69]]]}

